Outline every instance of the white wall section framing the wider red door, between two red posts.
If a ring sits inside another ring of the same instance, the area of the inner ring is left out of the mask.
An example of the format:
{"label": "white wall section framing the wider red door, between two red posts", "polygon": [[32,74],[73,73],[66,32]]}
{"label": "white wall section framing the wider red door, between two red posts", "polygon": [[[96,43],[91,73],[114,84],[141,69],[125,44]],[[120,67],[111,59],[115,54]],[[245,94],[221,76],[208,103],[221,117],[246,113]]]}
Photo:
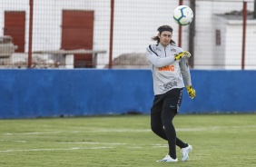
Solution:
{"label": "white wall section framing the wider red door, between two red posts", "polygon": [[94,10],[94,49],[108,49],[109,1],[34,0],[34,50],[60,49],[63,10]]}

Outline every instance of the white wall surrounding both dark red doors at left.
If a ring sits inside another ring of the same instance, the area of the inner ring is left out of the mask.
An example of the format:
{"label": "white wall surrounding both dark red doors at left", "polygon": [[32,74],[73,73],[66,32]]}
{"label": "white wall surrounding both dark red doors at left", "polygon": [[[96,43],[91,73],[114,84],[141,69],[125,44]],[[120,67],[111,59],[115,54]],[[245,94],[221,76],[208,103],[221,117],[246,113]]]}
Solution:
{"label": "white wall surrounding both dark red doors at left", "polygon": [[[34,0],[33,51],[57,50],[61,46],[62,11],[94,10],[94,49],[109,47],[110,2],[94,0]],[[29,0],[1,0],[0,35],[5,11],[25,11],[25,52],[28,50]],[[104,30],[104,31],[103,31]]]}

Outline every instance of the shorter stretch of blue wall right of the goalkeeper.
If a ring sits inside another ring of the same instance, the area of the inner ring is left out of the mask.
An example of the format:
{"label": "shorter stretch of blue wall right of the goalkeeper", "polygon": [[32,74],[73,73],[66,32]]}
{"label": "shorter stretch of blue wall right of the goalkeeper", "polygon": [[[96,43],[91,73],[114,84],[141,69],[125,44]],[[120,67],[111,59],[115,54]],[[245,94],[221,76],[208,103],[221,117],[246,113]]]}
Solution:
{"label": "shorter stretch of blue wall right of the goalkeeper", "polygon": [[184,98],[182,113],[254,113],[255,82],[256,71],[192,70],[197,97]]}

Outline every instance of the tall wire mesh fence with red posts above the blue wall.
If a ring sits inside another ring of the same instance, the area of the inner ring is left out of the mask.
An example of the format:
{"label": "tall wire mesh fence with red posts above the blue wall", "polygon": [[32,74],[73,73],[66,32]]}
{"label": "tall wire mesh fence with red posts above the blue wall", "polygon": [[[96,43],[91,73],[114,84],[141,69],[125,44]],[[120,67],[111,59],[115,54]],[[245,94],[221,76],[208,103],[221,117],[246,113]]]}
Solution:
{"label": "tall wire mesh fence with red posts above the blue wall", "polygon": [[[178,26],[178,5],[194,12]],[[160,25],[194,69],[256,69],[255,1],[1,0],[0,68],[148,68]]]}

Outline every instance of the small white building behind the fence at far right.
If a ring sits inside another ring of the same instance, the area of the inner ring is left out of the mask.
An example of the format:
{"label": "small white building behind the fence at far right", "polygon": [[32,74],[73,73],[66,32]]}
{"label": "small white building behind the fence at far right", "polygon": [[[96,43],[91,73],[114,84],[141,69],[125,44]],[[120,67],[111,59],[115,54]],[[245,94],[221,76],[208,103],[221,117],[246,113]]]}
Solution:
{"label": "small white building behind the fence at far right", "polygon": [[[214,45],[212,61],[224,69],[240,69],[243,21],[236,15],[216,15],[215,19],[220,23],[215,29],[221,39]],[[246,23],[245,69],[256,69],[256,19],[248,19]]]}

